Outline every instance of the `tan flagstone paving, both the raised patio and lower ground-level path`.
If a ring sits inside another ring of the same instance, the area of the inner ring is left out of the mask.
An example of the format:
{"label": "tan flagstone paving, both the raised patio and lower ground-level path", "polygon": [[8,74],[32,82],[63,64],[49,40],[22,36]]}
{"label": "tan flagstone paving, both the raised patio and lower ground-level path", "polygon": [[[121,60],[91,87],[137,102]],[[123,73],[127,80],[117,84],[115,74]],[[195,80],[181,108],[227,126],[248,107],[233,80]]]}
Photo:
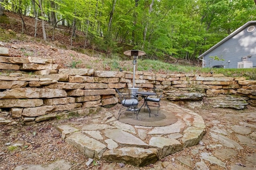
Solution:
{"label": "tan flagstone paving, both the raised patio and lower ground-level path", "polygon": [[[83,126],[67,124],[59,126],[58,129],[62,132],[62,138],[73,144],[85,156],[93,160],[108,161],[103,163],[102,170],[114,169],[118,162],[120,167],[122,163],[137,167],[150,164],[152,170],[256,169],[255,112],[241,112],[239,115],[226,113],[225,120],[211,120],[205,124],[200,115],[173,103],[161,106],[161,109],[175,113],[178,121],[166,127],[132,126],[122,124],[113,118],[114,116],[106,113],[101,115],[102,118],[95,117],[97,121],[91,121],[89,124]],[[212,113],[214,114],[218,115]],[[249,121],[241,121],[236,125],[232,122],[233,116]],[[205,138],[206,126],[209,128],[208,136]],[[177,163],[171,155],[187,147],[192,147],[190,154],[177,156],[176,160],[180,162]],[[238,156],[240,150],[248,150],[248,152],[239,156],[239,160],[227,164],[226,160]],[[168,155],[170,158],[165,159]],[[193,160],[194,156],[196,160]],[[70,164],[66,162],[68,168]],[[50,165],[41,166],[46,170],[44,167]],[[26,168],[28,167],[27,165]],[[22,167],[18,166],[16,169],[21,170]],[[134,167],[128,170],[140,170],[140,168]]]}

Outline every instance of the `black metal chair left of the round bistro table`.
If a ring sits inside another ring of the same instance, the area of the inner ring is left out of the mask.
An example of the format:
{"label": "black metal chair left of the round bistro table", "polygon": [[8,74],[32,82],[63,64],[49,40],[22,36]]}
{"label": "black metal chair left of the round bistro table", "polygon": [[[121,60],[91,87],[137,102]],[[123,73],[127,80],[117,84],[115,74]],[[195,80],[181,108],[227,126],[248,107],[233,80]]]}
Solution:
{"label": "black metal chair left of the round bistro table", "polygon": [[119,95],[118,103],[120,103],[122,105],[122,107],[118,113],[119,114],[118,119],[119,119],[120,115],[124,114],[126,111],[131,111],[132,113],[136,114],[136,118],[138,119],[138,113],[137,113],[136,107],[138,106],[139,101],[136,98],[136,96],[135,95],[125,95],[125,94],[121,93],[118,89],[116,89],[116,92]]}

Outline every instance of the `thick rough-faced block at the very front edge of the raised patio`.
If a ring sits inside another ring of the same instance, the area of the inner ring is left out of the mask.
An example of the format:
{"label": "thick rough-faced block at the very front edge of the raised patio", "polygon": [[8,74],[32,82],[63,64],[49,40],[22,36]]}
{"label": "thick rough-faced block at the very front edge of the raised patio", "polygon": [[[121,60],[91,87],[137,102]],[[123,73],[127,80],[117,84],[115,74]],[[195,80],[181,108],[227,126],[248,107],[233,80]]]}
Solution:
{"label": "thick rough-faced block at the very front edge of the raised patio", "polygon": [[140,167],[155,163],[158,160],[158,154],[156,148],[125,147],[104,152],[102,159]]}

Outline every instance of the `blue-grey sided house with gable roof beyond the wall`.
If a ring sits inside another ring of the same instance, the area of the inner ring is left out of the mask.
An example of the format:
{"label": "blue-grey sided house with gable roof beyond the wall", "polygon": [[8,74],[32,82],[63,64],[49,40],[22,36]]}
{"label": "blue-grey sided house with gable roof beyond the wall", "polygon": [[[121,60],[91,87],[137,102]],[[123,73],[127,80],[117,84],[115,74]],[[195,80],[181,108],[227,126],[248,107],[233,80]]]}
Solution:
{"label": "blue-grey sided house with gable roof beyond the wall", "polygon": [[256,21],[249,21],[198,57],[202,67],[256,67]]}

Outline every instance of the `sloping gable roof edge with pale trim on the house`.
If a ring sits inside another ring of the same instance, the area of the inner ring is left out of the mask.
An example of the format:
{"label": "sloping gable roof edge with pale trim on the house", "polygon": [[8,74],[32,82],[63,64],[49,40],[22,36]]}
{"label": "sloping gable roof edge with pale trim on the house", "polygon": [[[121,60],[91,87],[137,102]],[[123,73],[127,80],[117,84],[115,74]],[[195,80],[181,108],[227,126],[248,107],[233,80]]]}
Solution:
{"label": "sloping gable roof edge with pale trim on the house", "polygon": [[219,45],[221,45],[222,43],[226,42],[227,40],[229,40],[230,38],[232,38],[233,36],[235,36],[236,34],[238,34],[241,30],[244,30],[244,28],[246,28],[247,26],[249,26],[250,24],[255,24],[256,21],[249,21],[246,22],[246,24],[244,24],[243,26],[241,26],[240,28],[238,28],[237,30],[235,30],[234,32],[232,32],[231,34],[229,34],[226,38],[224,38],[223,40],[221,40],[220,42],[216,43],[214,46],[212,46],[210,49],[208,49],[207,51],[205,51],[204,53],[202,53],[201,55],[198,56],[198,58],[203,57],[204,55],[208,54],[210,51],[212,51],[213,49],[217,48]]}

